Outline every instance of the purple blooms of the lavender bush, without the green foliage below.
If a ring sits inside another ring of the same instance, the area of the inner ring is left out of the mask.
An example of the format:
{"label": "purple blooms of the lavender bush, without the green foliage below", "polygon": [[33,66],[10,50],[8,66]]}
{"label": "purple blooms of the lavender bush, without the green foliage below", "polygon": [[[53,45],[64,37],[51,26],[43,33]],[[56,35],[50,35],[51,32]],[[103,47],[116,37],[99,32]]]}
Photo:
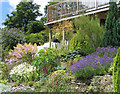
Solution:
{"label": "purple blooms of the lavender bush, without the green foliage below", "polygon": [[113,62],[116,53],[117,53],[117,48],[98,47],[96,52],[82,58],[80,61],[71,65],[71,71],[72,73],[76,73],[79,72],[80,70],[83,70],[83,68],[87,68],[87,67],[91,67],[95,70],[96,68],[101,69],[101,65],[103,67],[110,66],[111,62]]}

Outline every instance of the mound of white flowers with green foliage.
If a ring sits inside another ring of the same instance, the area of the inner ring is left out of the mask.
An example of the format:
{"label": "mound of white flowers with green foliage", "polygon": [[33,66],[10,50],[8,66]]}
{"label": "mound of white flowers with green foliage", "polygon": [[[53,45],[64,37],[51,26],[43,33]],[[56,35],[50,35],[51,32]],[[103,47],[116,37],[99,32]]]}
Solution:
{"label": "mound of white flowers with green foliage", "polygon": [[34,72],[36,70],[36,67],[31,66],[27,63],[22,63],[18,66],[15,66],[9,73],[10,78],[13,80],[25,80],[25,78],[30,77],[30,73]]}

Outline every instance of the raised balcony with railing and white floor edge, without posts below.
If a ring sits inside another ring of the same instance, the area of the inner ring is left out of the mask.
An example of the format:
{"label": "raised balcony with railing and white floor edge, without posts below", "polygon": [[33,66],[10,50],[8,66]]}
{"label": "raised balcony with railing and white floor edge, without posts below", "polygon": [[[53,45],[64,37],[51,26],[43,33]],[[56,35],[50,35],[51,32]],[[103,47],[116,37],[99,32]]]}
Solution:
{"label": "raised balcony with railing and white floor edge, without posts below", "polygon": [[109,2],[119,0],[64,0],[48,6],[47,23],[54,24],[64,20],[76,18],[84,13],[85,15],[96,14],[109,10]]}

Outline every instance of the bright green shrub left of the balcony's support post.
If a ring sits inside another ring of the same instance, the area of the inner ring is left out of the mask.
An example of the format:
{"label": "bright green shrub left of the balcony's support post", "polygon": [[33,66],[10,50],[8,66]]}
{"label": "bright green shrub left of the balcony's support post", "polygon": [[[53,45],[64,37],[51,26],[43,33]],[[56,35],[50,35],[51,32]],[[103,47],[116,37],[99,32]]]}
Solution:
{"label": "bright green shrub left of the balcony's support post", "polygon": [[26,35],[27,43],[31,42],[32,44],[36,43],[37,45],[39,45],[39,43],[44,44],[45,42],[48,42],[48,39],[48,30],[41,31],[40,33],[31,33]]}

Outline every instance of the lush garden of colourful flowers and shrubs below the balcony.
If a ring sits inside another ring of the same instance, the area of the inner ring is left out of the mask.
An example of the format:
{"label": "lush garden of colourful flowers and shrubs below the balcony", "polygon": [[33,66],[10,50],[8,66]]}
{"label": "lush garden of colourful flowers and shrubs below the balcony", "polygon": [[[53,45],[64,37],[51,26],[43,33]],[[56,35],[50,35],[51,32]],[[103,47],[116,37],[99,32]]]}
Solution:
{"label": "lush garden of colourful flowers and shrubs below the balcony", "polygon": [[39,42],[48,42],[49,32],[45,26],[40,27],[40,32],[35,31],[37,29],[32,25],[39,27],[42,22],[31,21],[26,29],[9,26],[0,29],[0,93],[120,93],[120,22],[117,13],[116,3],[110,3],[105,26],[100,25],[97,17],[83,15],[73,19],[73,32],[67,35],[69,45],[60,49],[38,51]]}

